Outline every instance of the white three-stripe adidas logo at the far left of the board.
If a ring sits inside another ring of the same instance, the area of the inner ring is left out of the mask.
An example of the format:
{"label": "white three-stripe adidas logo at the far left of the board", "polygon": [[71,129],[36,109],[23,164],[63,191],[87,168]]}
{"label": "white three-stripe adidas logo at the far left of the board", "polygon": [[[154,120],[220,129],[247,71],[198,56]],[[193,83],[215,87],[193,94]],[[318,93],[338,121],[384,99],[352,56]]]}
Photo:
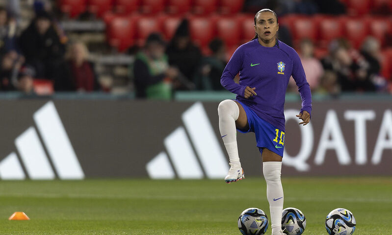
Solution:
{"label": "white three-stripe adidas logo at the far left of the board", "polygon": [[[33,119],[58,178],[83,179],[83,170],[53,102],[46,103],[36,111]],[[27,128],[15,140],[26,173],[32,180],[51,180],[55,178],[43,144],[33,126]],[[10,153],[0,162],[0,178],[4,180],[23,180],[26,178],[17,153]]]}

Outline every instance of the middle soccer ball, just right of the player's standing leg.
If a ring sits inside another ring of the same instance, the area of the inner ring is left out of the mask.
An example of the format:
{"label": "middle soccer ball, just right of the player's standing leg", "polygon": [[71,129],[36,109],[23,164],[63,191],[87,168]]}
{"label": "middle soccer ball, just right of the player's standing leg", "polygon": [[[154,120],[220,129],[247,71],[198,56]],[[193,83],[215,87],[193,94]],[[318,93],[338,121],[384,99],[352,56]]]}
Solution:
{"label": "middle soccer ball, just right of the player's standing leg", "polygon": [[[306,228],[306,219],[302,211],[286,208],[282,213],[282,229],[287,235],[301,235]],[[285,230],[286,229],[286,230]]]}

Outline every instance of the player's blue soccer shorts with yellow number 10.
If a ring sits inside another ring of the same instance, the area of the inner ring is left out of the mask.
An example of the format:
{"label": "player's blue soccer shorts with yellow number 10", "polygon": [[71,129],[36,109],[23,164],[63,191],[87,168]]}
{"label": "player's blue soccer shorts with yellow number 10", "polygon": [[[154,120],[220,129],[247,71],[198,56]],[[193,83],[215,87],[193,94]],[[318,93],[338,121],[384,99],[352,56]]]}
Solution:
{"label": "player's blue soccer shorts with yellow number 10", "polygon": [[279,130],[269,122],[260,118],[253,110],[251,110],[245,104],[239,102],[238,100],[235,101],[240,103],[244,108],[249,124],[248,130],[237,130],[241,133],[254,132],[260,153],[262,153],[262,148],[267,148],[268,150],[283,157],[285,132]]}

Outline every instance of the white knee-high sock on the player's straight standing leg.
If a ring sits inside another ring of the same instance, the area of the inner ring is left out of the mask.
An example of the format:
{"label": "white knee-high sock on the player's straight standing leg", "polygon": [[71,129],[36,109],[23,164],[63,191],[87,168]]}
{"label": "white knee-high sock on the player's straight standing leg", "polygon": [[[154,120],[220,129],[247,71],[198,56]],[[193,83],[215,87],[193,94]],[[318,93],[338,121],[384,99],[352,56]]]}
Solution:
{"label": "white knee-high sock on the player's straight standing leg", "polygon": [[267,199],[271,212],[272,235],[282,230],[283,188],[281,182],[282,162],[263,162],[262,171],[267,183]]}

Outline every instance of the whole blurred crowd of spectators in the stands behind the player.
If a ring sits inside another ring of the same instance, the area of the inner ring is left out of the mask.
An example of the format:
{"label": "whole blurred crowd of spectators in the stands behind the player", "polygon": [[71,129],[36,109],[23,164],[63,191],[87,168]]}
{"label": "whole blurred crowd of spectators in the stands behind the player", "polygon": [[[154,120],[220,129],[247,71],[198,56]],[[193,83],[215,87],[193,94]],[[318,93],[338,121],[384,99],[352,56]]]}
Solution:
{"label": "whole blurred crowd of spectators in the stands behind the player", "polygon": [[[98,82],[94,64],[88,61],[86,45],[67,41],[45,0],[34,1],[35,17],[17,35],[17,2],[0,7],[0,91],[35,95],[42,84],[49,84],[49,93],[105,90]],[[257,12],[265,7],[275,9],[278,15],[345,13],[339,0],[247,0],[244,10]],[[380,9],[379,13],[385,11]],[[279,39],[293,46],[285,27],[280,28]],[[313,92],[392,92],[391,78],[380,75],[380,43],[375,38],[366,38],[359,50],[345,39],[334,40],[321,59],[314,57],[311,40],[302,40],[298,48]],[[228,62],[224,42],[215,38],[209,43],[209,53],[202,53],[191,41],[186,19],[169,42],[158,32],[152,33],[144,47],[132,55],[135,60],[129,67],[130,82],[138,98],[171,99],[175,91],[224,90],[220,85]],[[293,79],[288,91],[297,92]]]}

